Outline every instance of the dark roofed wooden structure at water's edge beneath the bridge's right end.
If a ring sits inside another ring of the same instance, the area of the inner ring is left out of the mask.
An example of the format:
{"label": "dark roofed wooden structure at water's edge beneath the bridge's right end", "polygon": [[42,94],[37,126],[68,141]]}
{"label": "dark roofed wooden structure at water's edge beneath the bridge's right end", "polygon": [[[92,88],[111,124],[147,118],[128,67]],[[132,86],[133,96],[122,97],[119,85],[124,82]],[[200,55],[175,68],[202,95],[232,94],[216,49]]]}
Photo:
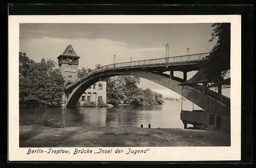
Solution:
{"label": "dark roofed wooden structure at water's edge beneath the bridge's right end", "polygon": [[[199,77],[200,76],[200,77]],[[182,93],[183,89],[186,87],[186,89],[199,89],[202,90],[203,94],[203,104],[204,109],[207,110],[194,110],[194,103],[193,103],[193,110],[183,110],[182,109],[182,101],[181,101],[181,114],[180,119],[182,120],[184,124],[184,129],[187,129],[187,124],[193,125],[194,128],[205,128],[210,127],[213,129],[224,129],[227,131],[230,131],[230,112],[229,114],[223,114],[222,113],[222,105],[221,110],[216,111],[215,109],[209,109],[208,107],[208,97],[207,91],[211,88],[211,90],[216,91],[216,94],[220,96],[220,101],[222,102],[222,89],[230,88],[230,78],[222,80],[222,81],[209,81],[203,77],[202,80],[202,74],[195,75],[193,78],[189,79],[188,81],[180,84],[182,86]],[[199,79],[200,78],[200,79]],[[212,84],[214,83],[214,84]],[[218,89],[218,91],[217,91]]]}

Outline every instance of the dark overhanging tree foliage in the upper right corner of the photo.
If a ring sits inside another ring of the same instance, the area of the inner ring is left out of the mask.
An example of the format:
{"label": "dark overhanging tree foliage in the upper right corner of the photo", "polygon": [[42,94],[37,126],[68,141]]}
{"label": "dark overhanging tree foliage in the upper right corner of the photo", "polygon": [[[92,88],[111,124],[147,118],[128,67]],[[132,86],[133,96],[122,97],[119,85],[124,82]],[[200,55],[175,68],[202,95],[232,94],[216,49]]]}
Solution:
{"label": "dark overhanging tree foliage in the upper right corner of the photo", "polygon": [[[214,23],[209,42],[217,39],[216,45],[205,57],[203,67],[210,80],[221,80],[230,69],[230,23]],[[220,78],[221,77],[221,78]]]}

